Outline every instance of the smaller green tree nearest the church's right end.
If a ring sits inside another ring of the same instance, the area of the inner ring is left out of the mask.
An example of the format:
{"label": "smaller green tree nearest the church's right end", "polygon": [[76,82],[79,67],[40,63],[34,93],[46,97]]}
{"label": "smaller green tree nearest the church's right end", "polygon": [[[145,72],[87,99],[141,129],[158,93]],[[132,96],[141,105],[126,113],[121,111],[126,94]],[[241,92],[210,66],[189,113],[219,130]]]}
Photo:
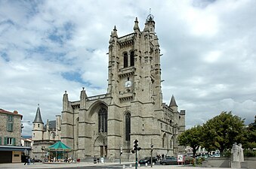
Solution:
{"label": "smaller green tree nearest the church's right end", "polygon": [[197,125],[193,128],[187,129],[177,138],[180,146],[190,146],[193,149],[193,157],[196,156],[196,150],[202,142],[202,126]]}

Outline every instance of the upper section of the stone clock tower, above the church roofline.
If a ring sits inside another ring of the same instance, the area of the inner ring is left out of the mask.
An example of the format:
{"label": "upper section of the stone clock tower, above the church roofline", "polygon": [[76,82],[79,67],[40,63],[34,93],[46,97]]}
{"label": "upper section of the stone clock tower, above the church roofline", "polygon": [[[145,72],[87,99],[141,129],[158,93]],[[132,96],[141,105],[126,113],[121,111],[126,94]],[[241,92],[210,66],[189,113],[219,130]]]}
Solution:
{"label": "upper section of the stone clock tower, above the church roofline", "polygon": [[118,37],[116,26],[109,39],[108,93],[113,103],[130,101],[162,104],[159,42],[153,15],[140,32],[137,17],[134,32]]}

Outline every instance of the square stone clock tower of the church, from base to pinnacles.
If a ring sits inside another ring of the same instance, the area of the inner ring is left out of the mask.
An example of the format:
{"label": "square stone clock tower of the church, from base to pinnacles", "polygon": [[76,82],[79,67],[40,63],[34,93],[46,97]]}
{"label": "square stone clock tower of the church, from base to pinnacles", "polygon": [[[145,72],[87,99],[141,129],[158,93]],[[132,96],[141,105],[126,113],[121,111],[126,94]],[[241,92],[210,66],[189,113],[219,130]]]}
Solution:
{"label": "square stone clock tower of the church, from base to pinnacles", "polygon": [[115,26],[110,35],[107,91],[112,101],[108,113],[109,119],[116,120],[108,121],[108,125],[109,128],[123,128],[109,133],[113,135],[108,137],[108,141],[113,143],[108,145],[110,151],[119,144],[129,152],[135,139],[141,140],[143,150],[140,154],[147,155],[151,144],[160,148],[162,141],[157,142],[161,140],[161,133],[157,129],[159,122],[156,116],[163,110],[158,40],[151,14],[142,32],[136,18],[133,33],[119,38]]}

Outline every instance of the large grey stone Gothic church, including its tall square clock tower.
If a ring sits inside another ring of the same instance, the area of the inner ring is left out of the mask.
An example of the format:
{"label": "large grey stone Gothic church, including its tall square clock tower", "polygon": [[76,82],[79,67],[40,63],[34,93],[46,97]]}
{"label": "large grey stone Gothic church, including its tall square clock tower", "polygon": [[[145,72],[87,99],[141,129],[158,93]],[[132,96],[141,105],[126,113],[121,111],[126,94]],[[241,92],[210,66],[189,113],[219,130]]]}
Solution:
{"label": "large grey stone Gothic church, including its tall square clock tower", "polygon": [[134,160],[133,140],[142,148],[138,157],[184,153],[177,135],[185,130],[185,110],[177,110],[174,96],[162,103],[159,39],[153,16],[143,31],[137,18],[134,32],[119,37],[116,26],[109,39],[106,94],[88,97],[83,88],[78,101],[63,95],[60,140],[73,149],[73,158],[105,156]]}

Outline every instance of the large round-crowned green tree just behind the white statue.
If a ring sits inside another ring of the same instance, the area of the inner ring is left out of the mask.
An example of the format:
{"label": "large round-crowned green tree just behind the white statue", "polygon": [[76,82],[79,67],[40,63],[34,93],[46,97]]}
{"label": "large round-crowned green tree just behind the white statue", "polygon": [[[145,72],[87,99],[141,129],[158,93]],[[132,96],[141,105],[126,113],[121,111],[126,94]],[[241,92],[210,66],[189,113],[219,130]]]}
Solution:
{"label": "large round-crowned green tree just behind the white statue", "polygon": [[230,149],[233,143],[242,143],[244,137],[244,120],[231,112],[222,112],[209,119],[203,125],[202,145],[208,149],[219,149],[223,155],[225,149]]}

